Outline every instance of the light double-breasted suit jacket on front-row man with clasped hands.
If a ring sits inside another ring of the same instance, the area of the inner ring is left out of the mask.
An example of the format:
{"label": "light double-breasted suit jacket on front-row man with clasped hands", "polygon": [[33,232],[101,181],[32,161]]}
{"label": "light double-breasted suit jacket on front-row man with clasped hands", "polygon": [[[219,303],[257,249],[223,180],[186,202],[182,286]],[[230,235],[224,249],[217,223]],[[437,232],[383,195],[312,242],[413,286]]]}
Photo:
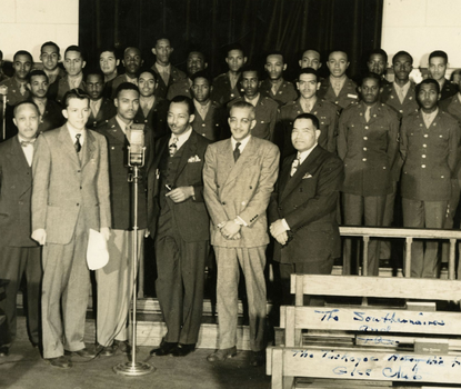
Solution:
{"label": "light double-breasted suit jacket on front-row man with clasped hands", "polygon": [[[265,210],[279,168],[275,144],[251,137],[234,162],[231,139],[208,147],[203,168],[204,200],[210,213],[211,245],[260,247],[269,243]],[[238,240],[226,239],[218,225],[240,217],[247,226]]]}

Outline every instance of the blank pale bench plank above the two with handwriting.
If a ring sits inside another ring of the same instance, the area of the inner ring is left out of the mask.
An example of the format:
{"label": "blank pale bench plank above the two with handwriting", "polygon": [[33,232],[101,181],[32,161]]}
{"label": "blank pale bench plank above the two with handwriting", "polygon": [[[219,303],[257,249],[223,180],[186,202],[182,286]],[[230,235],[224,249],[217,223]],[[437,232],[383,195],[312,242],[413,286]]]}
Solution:
{"label": "blank pale bench plank above the two with handwriting", "polygon": [[[291,275],[291,293],[295,292]],[[314,296],[381,297],[415,300],[459,300],[461,282],[428,278],[304,275],[303,293]]]}

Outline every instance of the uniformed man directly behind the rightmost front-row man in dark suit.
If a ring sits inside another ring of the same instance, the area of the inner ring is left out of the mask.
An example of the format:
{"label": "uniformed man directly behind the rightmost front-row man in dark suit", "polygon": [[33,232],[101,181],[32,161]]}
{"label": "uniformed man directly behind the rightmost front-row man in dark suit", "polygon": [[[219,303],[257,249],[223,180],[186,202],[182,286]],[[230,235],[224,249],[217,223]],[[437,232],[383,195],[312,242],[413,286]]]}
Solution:
{"label": "uniformed man directly behind the rightmost front-row man in dark suit", "polygon": [[313,113],[319,119],[319,144],[327,151],[337,151],[335,136],[338,127],[337,107],[317,96],[320,87],[319,74],[312,68],[302,69],[297,82],[300,98],[280,107],[278,127],[275,129],[275,143],[280,147],[282,159],[293,153],[291,130],[294,119],[301,113]]}

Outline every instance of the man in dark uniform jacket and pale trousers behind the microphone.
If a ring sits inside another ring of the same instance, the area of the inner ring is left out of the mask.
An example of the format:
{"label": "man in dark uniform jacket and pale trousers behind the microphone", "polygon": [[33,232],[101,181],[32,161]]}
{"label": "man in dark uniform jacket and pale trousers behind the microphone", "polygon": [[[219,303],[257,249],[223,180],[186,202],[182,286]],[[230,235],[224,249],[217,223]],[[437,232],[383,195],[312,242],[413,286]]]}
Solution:
{"label": "man in dark uniform jacket and pale trousers behind the microphone", "polygon": [[[139,108],[139,89],[123,82],[117,89],[117,114],[98,129],[108,141],[109,181],[111,196],[111,237],[108,241],[109,263],[96,271],[98,285],[97,340],[102,356],[111,356],[117,349],[128,353],[128,315],[132,298],[132,197],[133,186],[128,180],[132,169],[128,167],[128,146],[131,124]],[[144,129],[146,160],[152,146],[152,131]],[[143,252],[147,229],[147,184],[141,169],[138,196],[138,253]]]}

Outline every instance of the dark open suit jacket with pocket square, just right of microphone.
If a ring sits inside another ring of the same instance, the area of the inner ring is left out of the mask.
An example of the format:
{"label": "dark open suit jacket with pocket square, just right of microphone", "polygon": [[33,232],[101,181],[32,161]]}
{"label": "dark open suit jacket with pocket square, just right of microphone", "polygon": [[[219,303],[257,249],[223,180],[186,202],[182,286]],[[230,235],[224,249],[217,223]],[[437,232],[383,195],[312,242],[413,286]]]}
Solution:
{"label": "dark open suit jacket with pocket square, just right of microphone", "polygon": [[[148,221],[151,237],[156,236],[160,215],[160,176],[159,166],[162,158],[168,157],[170,134],[159,139],[148,172]],[[193,187],[194,197],[182,202],[173,202],[167,198],[181,238],[187,242],[210,239],[210,218],[203,202],[203,161],[209,140],[192,130],[189,139],[182,144],[182,157],[172,188]]]}

